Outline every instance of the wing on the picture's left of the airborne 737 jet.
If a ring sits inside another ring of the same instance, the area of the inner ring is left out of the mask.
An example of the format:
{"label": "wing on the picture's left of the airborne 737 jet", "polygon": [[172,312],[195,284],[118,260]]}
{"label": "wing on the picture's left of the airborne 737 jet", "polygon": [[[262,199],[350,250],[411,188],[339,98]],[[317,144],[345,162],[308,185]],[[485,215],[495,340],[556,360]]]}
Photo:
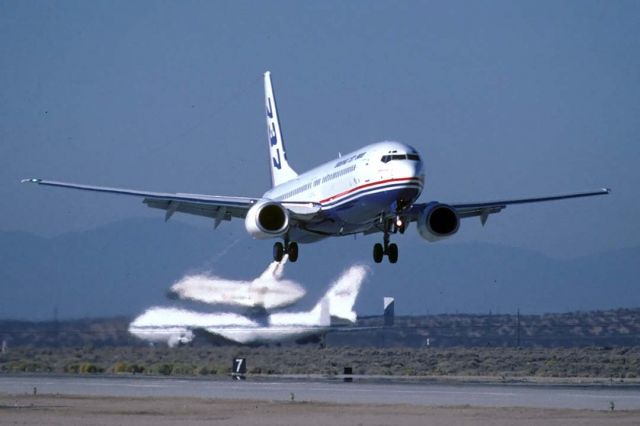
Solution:
{"label": "wing on the picture's left of the airborne 737 jet", "polygon": [[[169,193],[140,191],[126,188],[111,188],[105,186],[83,185],[78,183],[57,182],[45,179],[23,179],[22,183],[35,183],[45,186],[57,186],[60,188],[79,189],[93,192],[106,192],[110,194],[131,195],[141,197],[142,202],[155,209],[165,210],[165,221],[169,220],[175,212],[193,214],[215,219],[217,228],[221,221],[231,218],[244,218],[253,204],[260,198],[252,197],[227,197],[219,195],[203,195],[188,193]],[[293,218],[309,214],[315,210],[309,203],[282,203],[292,212]]]}

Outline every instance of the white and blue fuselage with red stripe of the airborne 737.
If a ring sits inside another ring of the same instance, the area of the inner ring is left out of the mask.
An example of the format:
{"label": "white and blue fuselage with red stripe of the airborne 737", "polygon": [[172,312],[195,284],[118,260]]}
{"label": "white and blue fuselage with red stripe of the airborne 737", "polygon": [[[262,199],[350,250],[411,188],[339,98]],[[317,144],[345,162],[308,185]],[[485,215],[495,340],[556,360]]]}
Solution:
{"label": "white and blue fuselage with red stripe of the airborne 737", "polygon": [[322,206],[325,215],[321,221],[290,231],[293,240],[304,243],[363,232],[381,214],[411,205],[423,185],[423,163],[414,148],[379,142],[303,173],[263,197]]}

